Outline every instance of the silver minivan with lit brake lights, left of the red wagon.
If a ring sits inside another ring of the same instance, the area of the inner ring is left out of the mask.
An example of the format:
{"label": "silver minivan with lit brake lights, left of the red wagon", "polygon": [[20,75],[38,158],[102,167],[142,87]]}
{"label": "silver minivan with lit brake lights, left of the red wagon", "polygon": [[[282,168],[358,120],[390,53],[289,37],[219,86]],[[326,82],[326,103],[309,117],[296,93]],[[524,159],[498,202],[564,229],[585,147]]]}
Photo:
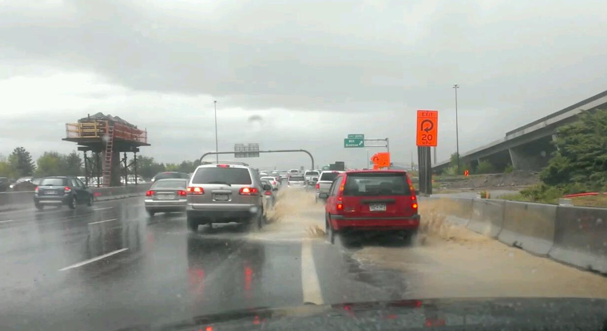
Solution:
{"label": "silver minivan with lit brake lights, left of the red wagon", "polygon": [[220,162],[198,166],[189,179],[186,214],[188,229],[212,223],[245,223],[262,227],[266,189],[259,174],[246,163]]}

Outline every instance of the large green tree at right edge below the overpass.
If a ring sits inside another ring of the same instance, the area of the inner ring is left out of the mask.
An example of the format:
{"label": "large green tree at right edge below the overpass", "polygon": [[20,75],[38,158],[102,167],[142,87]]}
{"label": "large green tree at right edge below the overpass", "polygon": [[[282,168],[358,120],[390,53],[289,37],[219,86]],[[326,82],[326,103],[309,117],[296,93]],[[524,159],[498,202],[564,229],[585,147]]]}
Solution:
{"label": "large green tree at right edge below the overpass", "polygon": [[605,189],[607,110],[586,111],[575,122],[561,126],[554,145],[557,151],[540,173],[543,183],[574,191]]}

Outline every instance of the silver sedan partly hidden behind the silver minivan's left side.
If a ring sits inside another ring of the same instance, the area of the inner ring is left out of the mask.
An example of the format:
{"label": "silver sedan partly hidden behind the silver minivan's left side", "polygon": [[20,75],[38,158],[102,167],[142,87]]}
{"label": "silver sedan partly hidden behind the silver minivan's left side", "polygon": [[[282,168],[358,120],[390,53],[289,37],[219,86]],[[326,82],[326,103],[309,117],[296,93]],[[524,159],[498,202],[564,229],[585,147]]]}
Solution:
{"label": "silver sedan partly hidden behind the silver minivan's left side", "polygon": [[157,212],[185,212],[187,179],[159,179],[146,192],[144,204],[150,216]]}

